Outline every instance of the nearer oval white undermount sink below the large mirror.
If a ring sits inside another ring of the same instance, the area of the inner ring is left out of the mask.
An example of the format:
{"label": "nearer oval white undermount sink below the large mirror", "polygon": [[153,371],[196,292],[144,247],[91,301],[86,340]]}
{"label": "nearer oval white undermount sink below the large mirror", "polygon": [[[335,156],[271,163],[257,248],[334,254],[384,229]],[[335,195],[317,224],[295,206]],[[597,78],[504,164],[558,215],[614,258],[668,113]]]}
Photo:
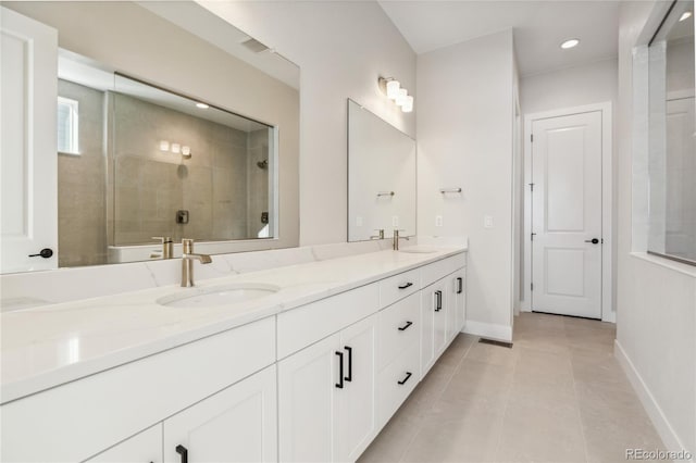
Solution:
{"label": "nearer oval white undermount sink below the large mirror", "polygon": [[262,284],[237,284],[210,288],[186,289],[157,300],[169,308],[208,308],[228,305],[271,296],[281,288]]}

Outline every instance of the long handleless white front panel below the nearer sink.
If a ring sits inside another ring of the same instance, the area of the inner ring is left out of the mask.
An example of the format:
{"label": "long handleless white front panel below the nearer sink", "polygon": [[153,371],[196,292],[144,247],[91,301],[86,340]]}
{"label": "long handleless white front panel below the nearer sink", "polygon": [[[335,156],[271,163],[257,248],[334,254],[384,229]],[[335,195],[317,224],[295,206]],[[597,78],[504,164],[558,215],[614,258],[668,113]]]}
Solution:
{"label": "long handleless white front panel below the nearer sink", "polygon": [[269,317],[9,402],[0,460],[83,461],[271,365],[274,340]]}

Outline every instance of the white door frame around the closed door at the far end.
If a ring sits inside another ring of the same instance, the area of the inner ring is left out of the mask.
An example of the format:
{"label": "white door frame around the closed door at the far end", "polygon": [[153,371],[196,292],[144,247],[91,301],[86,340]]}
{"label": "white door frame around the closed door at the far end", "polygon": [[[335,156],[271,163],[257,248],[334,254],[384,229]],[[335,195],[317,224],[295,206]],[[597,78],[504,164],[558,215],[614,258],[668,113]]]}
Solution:
{"label": "white door frame around the closed door at the far end", "polygon": [[613,175],[613,139],[611,101],[582,107],[564,108],[524,115],[524,299],[520,306],[522,312],[532,311],[532,124],[534,121],[582,114],[599,111],[601,113],[601,321],[616,323],[617,313],[613,310],[613,277],[612,277],[612,175]]}

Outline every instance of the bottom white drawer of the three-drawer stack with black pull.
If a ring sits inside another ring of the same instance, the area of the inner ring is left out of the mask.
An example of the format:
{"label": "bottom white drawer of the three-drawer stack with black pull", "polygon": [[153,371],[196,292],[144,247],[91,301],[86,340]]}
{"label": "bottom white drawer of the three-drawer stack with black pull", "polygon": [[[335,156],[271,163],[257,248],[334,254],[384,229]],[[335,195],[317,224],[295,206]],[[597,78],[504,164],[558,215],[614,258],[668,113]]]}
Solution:
{"label": "bottom white drawer of the three-drawer stack with black pull", "polygon": [[421,380],[420,362],[419,347],[412,346],[380,373],[377,383],[380,427],[389,421]]}

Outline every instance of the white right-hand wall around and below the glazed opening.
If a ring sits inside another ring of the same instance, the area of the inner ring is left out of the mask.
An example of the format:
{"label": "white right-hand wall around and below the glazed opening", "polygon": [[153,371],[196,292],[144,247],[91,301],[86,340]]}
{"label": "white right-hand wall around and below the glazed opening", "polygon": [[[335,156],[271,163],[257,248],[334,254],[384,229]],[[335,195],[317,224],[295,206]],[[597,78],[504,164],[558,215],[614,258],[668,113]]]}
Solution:
{"label": "white right-hand wall around and below the glazed opening", "polygon": [[648,186],[647,99],[634,98],[647,82],[633,74],[633,48],[652,7],[625,2],[620,13],[616,353],[668,448],[696,454],[696,270],[632,253],[647,242]]}

